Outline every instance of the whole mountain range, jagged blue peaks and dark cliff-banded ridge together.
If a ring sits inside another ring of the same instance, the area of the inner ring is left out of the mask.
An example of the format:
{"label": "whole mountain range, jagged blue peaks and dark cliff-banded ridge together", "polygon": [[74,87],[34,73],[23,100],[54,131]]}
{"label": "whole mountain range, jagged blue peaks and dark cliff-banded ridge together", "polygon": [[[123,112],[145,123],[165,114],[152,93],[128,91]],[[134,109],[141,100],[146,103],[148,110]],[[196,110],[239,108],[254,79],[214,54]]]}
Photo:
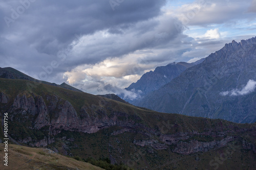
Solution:
{"label": "whole mountain range, jagged blue peaks and dark cliff-banded ridge together", "polygon": [[[1,68],[0,118],[8,113],[9,142],[46,148],[42,152],[10,145],[16,147],[10,148],[10,158],[23,156],[17,163],[41,169],[75,169],[77,162],[48,152],[92,164],[99,160],[98,166],[105,169],[113,169],[106,168],[106,162],[127,170],[256,169],[255,49],[256,38],[232,41],[193,66],[159,67],[154,74],[170,67],[166,70],[180,73],[159,89],[145,91],[142,107],[115,94],[93,95]],[[0,142],[3,128],[2,121]],[[64,160],[71,164],[66,166]]]}

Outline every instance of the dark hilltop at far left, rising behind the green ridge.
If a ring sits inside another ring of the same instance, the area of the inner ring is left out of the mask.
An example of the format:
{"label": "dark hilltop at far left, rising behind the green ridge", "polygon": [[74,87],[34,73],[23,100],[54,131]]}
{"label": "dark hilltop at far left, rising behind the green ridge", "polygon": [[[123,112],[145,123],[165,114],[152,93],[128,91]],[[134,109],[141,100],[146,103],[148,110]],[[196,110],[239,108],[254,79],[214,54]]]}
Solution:
{"label": "dark hilltop at far left, rising behind the green ridge", "polygon": [[62,87],[62,88],[82,92],[81,90],[78,90],[75,87],[72,87],[72,86],[70,86],[66,83],[62,83],[61,85],[57,85],[55,83],[49,83],[49,82],[46,82],[46,81],[40,81],[40,80],[34,79],[34,78],[24,74],[23,72],[20,72],[20,71],[14,69],[12,67],[5,67],[5,68],[0,67],[0,78],[30,80],[30,81],[34,81],[36,83],[44,83],[44,84],[49,84],[49,85],[52,85],[52,86],[57,86],[57,87]]}

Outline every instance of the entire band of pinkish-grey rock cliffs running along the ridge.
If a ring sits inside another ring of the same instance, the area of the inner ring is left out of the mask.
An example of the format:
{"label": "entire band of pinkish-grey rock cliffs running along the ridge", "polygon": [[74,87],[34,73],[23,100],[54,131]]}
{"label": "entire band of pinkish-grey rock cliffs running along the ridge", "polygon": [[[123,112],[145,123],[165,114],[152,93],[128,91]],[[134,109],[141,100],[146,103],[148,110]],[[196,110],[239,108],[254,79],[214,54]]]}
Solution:
{"label": "entire band of pinkish-grey rock cliffs running along the ridge", "polygon": [[[12,102],[5,93],[1,92],[0,94],[2,104]],[[224,147],[228,142],[236,138],[238,131],[241,133],[251,130],[237,130],[236,126],[233,126],[229,127],[229,130],[218,129],[218,127],[217,129],[205,129],[204,132],[181,133],[178,131],[177,133],[166,134],[161,130],[162,128],[148,127],[143,123],[142,118],[134,113],[117,110],[117,106],[116,108],[110,108],[109,106],[112,105],[112,102],[101,98],[98,105],[83,105],[77,113],[69,101],[60,98],[57,94],[48,93],[40,96],[23,92],[15,96],[7,112],[10,113],[12,122],[22,124],[30,122],[31,124],[26,127],[28,129],[40,131],[47,128],[48,135],[40,139],[35,139],[33,136],[27,136],[22,139],[16,138],[18,142],[37,147],[46,147],[46,145],[55,142],[54,135],[62,130],[95,133],[100,129],[117,126],[122,129],[113,132],[112,136],[127,132],[134,134],[139,132],[149,139],[134,139],[133,143],[135,145],[141,147],[149,146],[156,150],[166,150],[169,145],[172,145],[172,152],[188,155]],[[108,112],[108,110],[111,110],[111,112]],[[175,124],[170,127],[179,129],[181,126]],[[167,128],[170,129],[170,127]],[[233,135],[227,136],[230,134]],[[195,139],[197,136],[203,136],[202,138],[208,136],[210,139],[208,141],[200,141]],[[246,139],[243,141],[243,147],[255,151],[255,146],[252,143],[248,143]]]}

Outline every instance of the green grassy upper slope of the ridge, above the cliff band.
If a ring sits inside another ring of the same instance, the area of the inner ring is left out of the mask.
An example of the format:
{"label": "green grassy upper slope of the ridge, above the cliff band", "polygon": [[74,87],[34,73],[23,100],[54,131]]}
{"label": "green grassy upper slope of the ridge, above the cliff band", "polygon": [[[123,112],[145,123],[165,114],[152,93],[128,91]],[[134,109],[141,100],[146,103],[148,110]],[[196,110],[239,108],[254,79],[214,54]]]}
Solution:
{"label": "green grassy upper slope of the ridge, above the cliff band", "polygon": [[[255,127],[255,124],[236,124],[232,122],[228,122],[226,120],[221,119],[209,119],[202,117],[191,117],[181,114],[168,114],[168,113],[159,113],[155,111],[144,110],[132,105],[128,105],[122,102],[117,102],[114,100],[102,98],[97,95],[85,93],[85,92],[77,92],[68,90],[65,88],[59,88],[46,84],[39,84],[34,88],[29,88],[28,83],[33,83],[27,80],[10,80],[10,79],[0,79],[0,92],[3,91],[9,94],[9,98],[14,100],[15,96],[18,94],[26,94],[31,95],[32,93],[35,95],[44,96],[46,94],[53,95],[56,94],[60,98],[69,101],[76,112],[79,115],[79,110],[82,106],[91,107],[95,105],[95,107],[109,107],[113,108],[113,110],[126,112],[130,115],[137,115],[142,119],[142,123],[147,127],[155,128],[158,126],[161,128],[163,125],[178,125],[172,127],[172,129],[168,130],[169,134],[174,134],[177,132],[191,132],[198,131],[203,132],[205,129],[212,127],[219,127],[221,130],[229,130],[230,126],[237,126],[238,128],[251,128]],[[47,100],[45,103],[47,104]],[[104,105],[104,102],[108,102],[108,105]],[[13,102],[11,102],[13,103]],[[103,103],[103,104],[102,104]],[[6,112],[5,108],[9,108],[8,105],[4,104],[4,109],[0,110],[1,112]],[[111,111],[109,111],[109,114]],[[140,122],[141,123],[141,122]],[[221,127],[220,127],[221,124]]]}

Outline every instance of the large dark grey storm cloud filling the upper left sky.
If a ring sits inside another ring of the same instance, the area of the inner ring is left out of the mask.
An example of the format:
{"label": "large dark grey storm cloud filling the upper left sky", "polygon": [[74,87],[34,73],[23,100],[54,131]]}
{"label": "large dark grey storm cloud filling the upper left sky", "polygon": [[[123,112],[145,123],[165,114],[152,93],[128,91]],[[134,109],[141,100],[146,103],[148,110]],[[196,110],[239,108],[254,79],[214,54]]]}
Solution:
{"label": "large dark grey storm cloud filling the upper left sky", "polygon": [[[109,29],[111,34],[123,34],[125,30],[133,32],[132,28],[139,21],[146,21],[160,15],[160,8],[164,4],[164,0],[124,1],[113,11],[109,1],[1,2],[0,37],[3,50],[0,52],[0,57],[4,60],[2,66],[22,69],[26,65],[31,65],[25,70],[27,72],[37,71],[39,74],[43,66],[47,67],[53,60],[59,60],[56,57],[57,52],[65,51],[72,41],[78,41],[81,36],[90,36],[100,30]],[[54,69],[53,72],[65,70],[65,68],[71,69],[81,63],[96,63],[112,57],[116,48],[113,47],[113,51],[105,51],[105,49],[113,42],[105,41],[98,47],[97,43],[93,44],[95,46],[89,51],[85,51],[86,54],[68,56],[68,60],[72,63],[59,62],[60,67]],[[120,48],[114,56],[132,52],[141,48],[142,45],[146,46],[142,42],[137,45],[140,46],[123,52]],[[67,55],[69,54],[70,50]],[[95,55],[98,55],[97,59]]]}

